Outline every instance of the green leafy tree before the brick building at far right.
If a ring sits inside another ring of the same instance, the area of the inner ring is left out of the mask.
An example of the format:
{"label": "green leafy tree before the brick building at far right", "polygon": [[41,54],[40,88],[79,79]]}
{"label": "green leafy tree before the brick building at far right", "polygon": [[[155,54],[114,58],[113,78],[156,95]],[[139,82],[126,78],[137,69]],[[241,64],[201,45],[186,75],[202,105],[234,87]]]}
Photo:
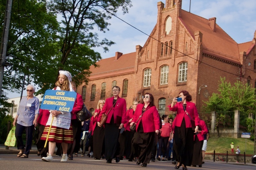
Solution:
{"label": "green leafy tree before the brick building at far right", "polygon": [[204,102],[204,110],[225,112],[229,116],[229,120],[233,125],[234,113],[228,111],[240,111],[240,124],[246,126],[246,118],[249,113],[254,113],[256,104],[255,89],[244,84],[240,81],[231,85],[230,82],[226,82],[225,77],[221,78],[219,82],[218,91],[220,93],[212,93],[209,97],[209,101]]}

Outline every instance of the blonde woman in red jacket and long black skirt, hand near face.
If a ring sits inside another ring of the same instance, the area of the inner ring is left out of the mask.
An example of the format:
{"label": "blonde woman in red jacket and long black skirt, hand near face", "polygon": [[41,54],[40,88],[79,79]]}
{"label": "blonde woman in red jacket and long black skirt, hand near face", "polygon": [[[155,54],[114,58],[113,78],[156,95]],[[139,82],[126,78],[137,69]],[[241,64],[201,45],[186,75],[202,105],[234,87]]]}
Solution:
{"label": "blonde woman in red jacket and long black skirt, hand near face", "polygon": [[94,146],[94,150],[93,150],[93,156],[94,159],[100,159],[101,156],[102,158],[104,157],[104,153],[105,153],[105,144],[104,142],[104,125],[99,127],[97,124],[97,119],[98,116],[103,108],[105,104],[105,100],[99,100],[98,105],[97,105],[97,109],[95,110],[94,115],[91,118],[91,121],[93,121],[93,146]]}

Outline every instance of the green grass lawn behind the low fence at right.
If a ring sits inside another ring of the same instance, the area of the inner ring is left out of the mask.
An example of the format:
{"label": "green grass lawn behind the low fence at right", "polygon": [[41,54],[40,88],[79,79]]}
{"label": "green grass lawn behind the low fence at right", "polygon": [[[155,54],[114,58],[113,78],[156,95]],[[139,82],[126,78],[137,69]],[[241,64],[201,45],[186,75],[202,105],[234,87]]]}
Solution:
{"label": "green grass lawn behind the low fence at right", "polygon": [[[245,140],[246,140],[246,151],[245,151]],[[228,138],[228,137],[210,137],[207,142],[206,153],[228,153],[231,154],[231,142],[234,142],[234,152],[237,145],[239,145],[239,149],[241,154],[250,154],[254,155],[254,141],[246,138]]]}

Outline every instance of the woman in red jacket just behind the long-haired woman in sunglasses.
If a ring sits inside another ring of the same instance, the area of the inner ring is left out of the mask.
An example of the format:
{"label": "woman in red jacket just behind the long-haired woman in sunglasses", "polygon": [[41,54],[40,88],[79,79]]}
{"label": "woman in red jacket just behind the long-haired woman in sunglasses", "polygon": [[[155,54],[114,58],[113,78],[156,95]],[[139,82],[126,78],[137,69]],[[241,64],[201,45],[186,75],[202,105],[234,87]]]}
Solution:
{"label": "woman in red jacket just behind the long-haired woman in sunglasses", "polygon": [[133,115],[135,113],[135,110],[136,110],[138,104],[139,104],[138,101],[133,101],[132,108],[127,110],[127,112],[126,112],[126,121],[127,121],[127,123],[124,124],[124,128],[125,128],[125,155],[126,155],[126,159],[128,159],[128,161],[130,161],[130,162],[132,162],[133,158],[134,158],[134,153],[133,153],[133,149],[132,149],[132,139],[133,139],[134,132],[131,132],[131,130],[130,130],[130,123],[133,120]]}

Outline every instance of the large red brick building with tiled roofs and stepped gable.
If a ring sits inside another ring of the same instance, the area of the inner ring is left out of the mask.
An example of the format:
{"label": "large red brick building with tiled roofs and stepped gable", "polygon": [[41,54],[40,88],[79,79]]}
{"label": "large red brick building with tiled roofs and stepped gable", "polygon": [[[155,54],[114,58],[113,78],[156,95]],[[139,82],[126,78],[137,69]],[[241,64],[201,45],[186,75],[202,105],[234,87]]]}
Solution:
{"label": "large red brick building with tiled roofs and stepped gable", "polygon": [[[157,3],[157,23],[144,46],[136,52],[102,59],[90,67],[89,83],[77,92],[93,111],[99,99],[121,88],[127,109],[145,93],[152,93],[160,114],[169,114],[167,105],[179,91],[187,90],[198,110],[202,100],[217,92],[220,77],[256,87],[256,31],[252,41],[236,43],[218,24],[181,9],[182,0]],[[207,86],[207,87],[206,87]]]}

